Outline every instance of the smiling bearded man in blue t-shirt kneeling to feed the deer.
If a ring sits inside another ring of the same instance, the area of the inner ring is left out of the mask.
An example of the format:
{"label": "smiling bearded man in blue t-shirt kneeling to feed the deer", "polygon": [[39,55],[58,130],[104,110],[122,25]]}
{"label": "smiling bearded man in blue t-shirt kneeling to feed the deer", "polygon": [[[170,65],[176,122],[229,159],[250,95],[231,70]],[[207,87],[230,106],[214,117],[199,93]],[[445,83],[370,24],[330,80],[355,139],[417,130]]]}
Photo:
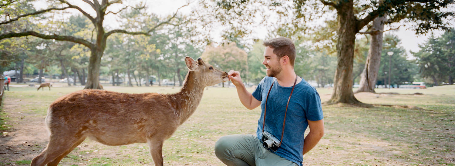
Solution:
{"label": "smiling bearded man in blue t-shirt kneeling to feed the deer", "polygon": [[[252,110],[261,105],[257,136],[223,136],[215,144],[215,154],[228,166],[302,166],[303,155],[324,135],[319,94],[295,74],[292,40],[278,37],[265,41],[264,45],[263,65],[267,76],[253,93],[246,90],[238,71],[228,73],[243,106]],[[304,137],[307,126],[310,132]],[[263,147],[263,131],[281,142],[276,151]]]}

